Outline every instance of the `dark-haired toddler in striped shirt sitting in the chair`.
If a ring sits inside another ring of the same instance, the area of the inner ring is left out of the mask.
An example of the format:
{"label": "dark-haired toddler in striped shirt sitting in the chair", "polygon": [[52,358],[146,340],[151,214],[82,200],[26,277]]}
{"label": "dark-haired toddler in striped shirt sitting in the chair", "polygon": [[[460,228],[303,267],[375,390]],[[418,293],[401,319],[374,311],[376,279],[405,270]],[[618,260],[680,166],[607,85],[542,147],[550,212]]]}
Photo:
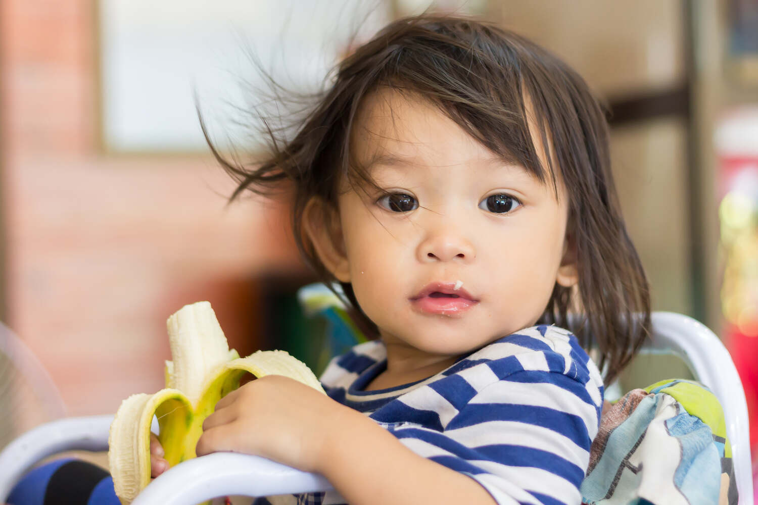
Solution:
{"label": "dark-haired toddler in striped shirt sitting in the chair", "polygon": [[335,488],[272,503],[580,503],[603,404],[583,348],[610,382],[650,328],[581,77],[506,30],[424,14],[359,47],[270,144],[249,167],[211,144],[232,199],[293,189],[300,250],[374,339],[327,366],[328,396],[282,376],[228,394],[197,453]]}

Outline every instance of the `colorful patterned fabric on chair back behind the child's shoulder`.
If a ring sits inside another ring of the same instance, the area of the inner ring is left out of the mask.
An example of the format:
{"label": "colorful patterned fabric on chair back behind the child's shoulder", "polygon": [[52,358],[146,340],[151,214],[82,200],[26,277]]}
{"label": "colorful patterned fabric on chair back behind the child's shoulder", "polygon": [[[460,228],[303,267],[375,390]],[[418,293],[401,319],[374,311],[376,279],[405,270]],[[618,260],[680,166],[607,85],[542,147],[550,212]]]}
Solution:
{"label": "colorful patterned fabric on chair back behind the child's shoulder", "polygon": [[719,401],[668,379],[606,404],[581,493],[591,505],[737,505]]}

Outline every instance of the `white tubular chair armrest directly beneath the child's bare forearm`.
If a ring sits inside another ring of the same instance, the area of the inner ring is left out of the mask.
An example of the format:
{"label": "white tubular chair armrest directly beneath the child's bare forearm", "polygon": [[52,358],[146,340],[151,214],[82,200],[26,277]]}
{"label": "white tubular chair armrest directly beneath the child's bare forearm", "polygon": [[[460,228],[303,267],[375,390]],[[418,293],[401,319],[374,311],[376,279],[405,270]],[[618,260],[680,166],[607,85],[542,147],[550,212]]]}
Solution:
{"label": "white tubular chair armrest directly beneath the child's bare forearm", "polygon": [[321,475],[263,457],[220,452],[168,469],[132,505],[193,505],[224,495],[260,497],[330,489]]}

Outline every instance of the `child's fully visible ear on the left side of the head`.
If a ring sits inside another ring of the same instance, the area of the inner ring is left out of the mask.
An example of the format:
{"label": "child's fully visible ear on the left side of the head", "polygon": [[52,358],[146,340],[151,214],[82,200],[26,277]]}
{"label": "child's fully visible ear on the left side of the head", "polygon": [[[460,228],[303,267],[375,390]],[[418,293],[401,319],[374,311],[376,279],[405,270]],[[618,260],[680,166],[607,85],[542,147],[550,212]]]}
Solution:
{"label": "child's fully visible ear on the left side of the head", "polygon": [[350,265],[337,211],[314,197],[305,204],[302,219],[305,233],[324,267],[340,282],[350,282]]}

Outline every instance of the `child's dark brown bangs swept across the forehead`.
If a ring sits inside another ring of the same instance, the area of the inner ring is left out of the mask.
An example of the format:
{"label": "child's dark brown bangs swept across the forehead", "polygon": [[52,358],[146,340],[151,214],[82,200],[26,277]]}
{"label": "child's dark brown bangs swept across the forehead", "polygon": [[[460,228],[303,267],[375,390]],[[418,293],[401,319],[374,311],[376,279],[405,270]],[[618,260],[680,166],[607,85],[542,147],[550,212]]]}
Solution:
{"label": "child's dark brown bangs swept across the forehead", "polygon": [[[378,132],[359,131],[359,122],[371,95],[390,91],[410,101],[432,104],[504,163],[525,168],[542,183],[550,179],[557,196],[550,148],[553,139],[543,119],[548,111],[543,110],[541,101],[531,98],[540,95],[540,90],[524,86],[528,81],[520,73],[518,61],[506,58],[509,54],[501,55],[504,61],[491,55],[485,60],[479,48],[453,45],[460,42],[458,39],[446,44],[428,42],[404,45],[398,54],[387,55],[386,64],[374,76],[374,81],[365,83],[364,91],[353,97],[343,132],[341,178],[353,189],[378,189],[368,170],[374,158],[359,161],[351,147],[356,138],[363,136],[381,139]],[[340,75],[343,73],[352,73],[349,60],[340,67]],[[454,86],[450,80],[455,82]],[[393,114],[391,107],[387,110]],[[394,120],[393,115],[393,123]],[[533,135],[538,138],[533,139]],[[541,158],[540,150],[544,151]],[[374,154],[374,157],[379,156],[380,153]],[[547,161],[547,167],[543,167],[541,159]]]}

